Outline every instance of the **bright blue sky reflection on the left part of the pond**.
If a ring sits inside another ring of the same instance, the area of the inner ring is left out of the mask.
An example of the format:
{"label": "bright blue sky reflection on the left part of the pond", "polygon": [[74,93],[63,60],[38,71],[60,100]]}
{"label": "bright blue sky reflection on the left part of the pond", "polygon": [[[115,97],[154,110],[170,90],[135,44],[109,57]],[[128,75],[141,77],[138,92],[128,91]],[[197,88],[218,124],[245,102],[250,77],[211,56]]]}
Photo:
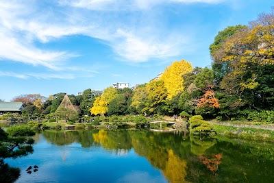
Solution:
{"label": "bright blue sky reflection on the left part of the pond", "polygon": [[[42,134],[36,142],[34,154],[5,159],[11,167],[21,169],[16,182],[167,182],[160,170],[134,149],[82,148],[79,143],[56,146]],[[25,169],[34,164],[38,165],[38,171],[29,175]]]}

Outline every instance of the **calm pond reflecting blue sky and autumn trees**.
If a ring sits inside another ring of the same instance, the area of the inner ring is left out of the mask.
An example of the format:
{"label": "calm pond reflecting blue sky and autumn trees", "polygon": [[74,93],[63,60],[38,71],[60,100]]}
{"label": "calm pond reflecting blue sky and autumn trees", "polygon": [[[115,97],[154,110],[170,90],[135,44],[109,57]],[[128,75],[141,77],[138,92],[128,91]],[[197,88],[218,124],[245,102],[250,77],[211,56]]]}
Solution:
{"label": "calm pond reflecting blue sky and autumn trees", "polygon": [[[274,145],[185,132],[46,130],[16,182],[273,182]],[[27,173],[29,166],[38,166]]]}

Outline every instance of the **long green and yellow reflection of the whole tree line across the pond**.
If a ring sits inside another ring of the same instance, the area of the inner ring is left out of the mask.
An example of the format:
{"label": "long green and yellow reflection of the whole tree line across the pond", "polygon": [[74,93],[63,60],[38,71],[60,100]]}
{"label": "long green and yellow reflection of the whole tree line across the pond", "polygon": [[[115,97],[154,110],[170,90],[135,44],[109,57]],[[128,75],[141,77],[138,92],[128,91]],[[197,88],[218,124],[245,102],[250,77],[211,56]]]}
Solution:
{"label": "long green and yellow reflection of the whole tree line across the pond", "polygon": [[[59,133],[56,138],[55,133]],[[144,156],[153,167],[160,169],[169,182],[261,182],[260,178],[271,182],[274,179],[273,145],[239,145],[237,141],[219,137],[201,141],[182,134],[134,130],[73,131],[66,132],[66,135],[64,132],[55,133],[49,132],[45,136],[58,145],[73,142],[81,143],[82,147],[99,145],[116,155],[127,154],[133,147],[139,156]],[[199,159],[199,156],[210,158],[211,154],[222,156],[218,175],[209,171]],[[262,170],[272,173],[266,177]]]}

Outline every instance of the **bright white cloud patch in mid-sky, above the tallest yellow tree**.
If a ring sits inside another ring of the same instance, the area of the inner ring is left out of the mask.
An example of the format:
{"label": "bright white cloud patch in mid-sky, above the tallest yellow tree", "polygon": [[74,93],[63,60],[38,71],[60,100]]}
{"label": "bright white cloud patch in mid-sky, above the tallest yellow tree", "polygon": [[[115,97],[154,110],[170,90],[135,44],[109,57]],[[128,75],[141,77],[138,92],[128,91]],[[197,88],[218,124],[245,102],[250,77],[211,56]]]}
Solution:
{"label": "bright white cloud patch in mid-sky, above the tallest yellow tree", "polygon": [[132,62],[146,62],[150,58],[177,56],[180,51],[178,46],[183,47],[187,40],[182,35],[174,34],[159,40],[159,38],[151,37],[151,34],[148,34],[149,36],[137,36],[121,29],[117,30],[116,35],[119,38],[112,42],[114,51],[122,58]]}

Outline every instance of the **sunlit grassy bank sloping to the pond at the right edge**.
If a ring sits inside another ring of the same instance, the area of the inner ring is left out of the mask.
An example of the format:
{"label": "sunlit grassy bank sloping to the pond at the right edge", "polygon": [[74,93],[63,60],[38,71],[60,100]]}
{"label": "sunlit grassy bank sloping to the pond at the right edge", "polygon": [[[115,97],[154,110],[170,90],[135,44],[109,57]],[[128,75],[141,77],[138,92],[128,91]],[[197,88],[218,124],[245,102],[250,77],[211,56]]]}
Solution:
{"label": "sunlit grassy bank sloping to the pond at the right edge", "polygon": [[274,142],[274,131],[271,130],[256,129],[252,127],[233,127],[217,124],[213,125],[217,134],[227,136],[229,138]]}

